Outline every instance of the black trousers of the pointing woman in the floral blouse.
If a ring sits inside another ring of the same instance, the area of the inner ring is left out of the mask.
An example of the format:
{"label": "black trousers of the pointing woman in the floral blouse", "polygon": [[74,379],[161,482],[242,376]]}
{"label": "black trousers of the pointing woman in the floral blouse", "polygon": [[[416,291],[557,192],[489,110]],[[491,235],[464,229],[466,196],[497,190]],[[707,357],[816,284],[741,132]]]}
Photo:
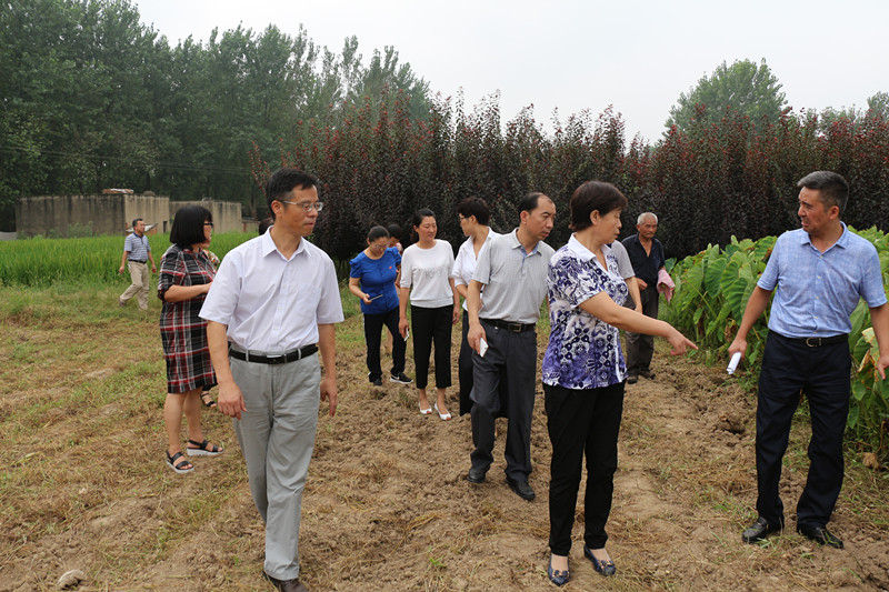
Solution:
{"label": "black trousers of the pointing woman in the floral blouse", "polygon": [[571,529],[587,456],[583,542],[601,549],[611,513],[618,433],[623,414],[623,382],[575,390],[543,384],[547,431],[552,443],[549,484],[549,546],[556,555],[571,550]]}

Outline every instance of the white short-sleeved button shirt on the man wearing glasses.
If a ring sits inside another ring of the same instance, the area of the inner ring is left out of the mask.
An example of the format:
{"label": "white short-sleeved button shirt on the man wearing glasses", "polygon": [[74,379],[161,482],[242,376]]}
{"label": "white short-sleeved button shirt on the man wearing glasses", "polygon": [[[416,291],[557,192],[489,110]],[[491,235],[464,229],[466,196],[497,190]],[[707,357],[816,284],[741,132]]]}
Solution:
{"label": "white short-sleeved button shirt on the man wearing glasses", "polygon": [[286,259],[270,233],[222,260],[200,312],[228,325],[242,350],[281,353],[318,343],[318,325],[343,319],[333,261],[306,239]]}

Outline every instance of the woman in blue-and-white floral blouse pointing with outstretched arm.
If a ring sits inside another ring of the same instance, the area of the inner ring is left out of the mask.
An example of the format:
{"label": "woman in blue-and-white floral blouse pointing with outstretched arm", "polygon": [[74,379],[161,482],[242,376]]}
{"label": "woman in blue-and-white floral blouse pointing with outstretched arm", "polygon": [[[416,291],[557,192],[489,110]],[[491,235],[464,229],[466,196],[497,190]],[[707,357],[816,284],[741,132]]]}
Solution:
{"label": "woman in blue-and-white floral blouse pointing with outstretched arm", "polygon": [[543,355],[550,466],[549,579],[570,578],[568,553],[587,456],[583,554],[597,572],[612,575],[605,550],[618,465],[618,432],[627,368],[619,329],[666,338],[673,354],[695,344],[671,325],[625,308],[627,284],[608,247],[620,232],[627,198],[611,183],[587,181],[571,195],[571,235],[549,263],[551,332]]}

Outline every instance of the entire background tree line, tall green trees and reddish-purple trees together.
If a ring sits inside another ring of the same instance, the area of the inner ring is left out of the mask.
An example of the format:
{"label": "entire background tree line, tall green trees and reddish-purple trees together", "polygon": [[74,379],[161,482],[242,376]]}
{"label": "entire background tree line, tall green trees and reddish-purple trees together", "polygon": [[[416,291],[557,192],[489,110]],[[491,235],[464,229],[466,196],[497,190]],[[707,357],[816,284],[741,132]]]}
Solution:
{"label": "entire background tree line, tall green trees and reddish-purple trees together", "polygon": [[626,233],[656,211],[673,255],[796,227],[796,180],[816,169],[849,179],[847,221],[887,230],[889,94],[818,113],[780,89],[765,60],[723,62],[679,97],[652,146],[628,140],[612,108],[545,131],[530,109],[505,122],[496,93],[473,107],[433,97],[393,48],[366,62],[354,37],[334,53],[301,27],[238,27],[171,47],[129,0],[0,0],[0,230],[20,195],[107,187],[262,215],[264,179],[282,164],[322,180],[316,240],[337,258],[371,223],[409,225],[421,207],[457,242],[455,207],[470,194],[509,230],[530,190],[556,199],[561,244],[588,179],[630,198]]}

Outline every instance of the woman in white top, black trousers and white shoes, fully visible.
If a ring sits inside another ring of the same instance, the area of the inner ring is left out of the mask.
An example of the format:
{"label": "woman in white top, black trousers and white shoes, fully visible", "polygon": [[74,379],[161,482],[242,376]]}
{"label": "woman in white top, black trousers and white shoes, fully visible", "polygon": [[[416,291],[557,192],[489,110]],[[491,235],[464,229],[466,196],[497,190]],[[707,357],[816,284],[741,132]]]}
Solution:
{"label": "woman in white top, black trousers and white shoes, fully visible", "polygon": [[447,421],[451,419],[444,397],[446,389],[451,385],[451,325],[457,324],[460,318],[460,297],[450,277],[453,250],[448,241],[436,239],[437,232],[438,224],[432,210],[422,209],[413,214],[417,242],[404,249],[401,257],[398,330],[407,339],[410,300],[420,413],[432,413],[426,385],[429,382],[429,357],[434,343],[438,394],[434,409],[439,418]]}

